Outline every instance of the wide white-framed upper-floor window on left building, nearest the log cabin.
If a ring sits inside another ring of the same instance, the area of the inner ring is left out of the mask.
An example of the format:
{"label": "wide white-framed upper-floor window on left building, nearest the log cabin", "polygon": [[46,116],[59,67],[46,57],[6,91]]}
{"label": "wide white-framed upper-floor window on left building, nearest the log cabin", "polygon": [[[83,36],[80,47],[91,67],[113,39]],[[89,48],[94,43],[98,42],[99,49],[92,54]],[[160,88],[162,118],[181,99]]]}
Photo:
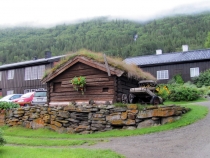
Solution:
{"label": "wide white-framed upper-floor window on left building, nearest the log cabin", "polygon": [[44,71],[45,71],[45,65],[26,67],[25,80],[42,79]]}

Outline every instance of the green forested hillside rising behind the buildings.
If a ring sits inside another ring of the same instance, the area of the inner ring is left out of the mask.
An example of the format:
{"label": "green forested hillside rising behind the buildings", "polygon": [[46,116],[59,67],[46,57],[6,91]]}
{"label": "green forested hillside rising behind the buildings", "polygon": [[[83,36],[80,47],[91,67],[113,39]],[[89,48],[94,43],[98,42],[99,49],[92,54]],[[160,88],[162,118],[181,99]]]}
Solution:
{"label": "green forested hillside rising behind the buildings", "polygon": [[44,51],[61,55],[80,48],[122,58],[203,49],[210,32],[210,13],[177,16],[138,23],[106,18],[53,28],[0,29],[0,64],[43,58]]}

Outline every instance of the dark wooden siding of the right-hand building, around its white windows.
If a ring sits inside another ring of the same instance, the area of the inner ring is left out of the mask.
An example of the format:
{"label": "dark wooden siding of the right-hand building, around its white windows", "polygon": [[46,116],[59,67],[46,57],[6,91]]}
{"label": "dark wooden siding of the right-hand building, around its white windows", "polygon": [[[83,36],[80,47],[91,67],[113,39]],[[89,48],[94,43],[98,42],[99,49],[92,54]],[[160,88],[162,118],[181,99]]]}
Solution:
{"label": "dark wooden siding of the right-hand building, around its white windows", "polygon": [[176,74],[181,74],[182,78],[185,82],[192,81],[192,79],[190,77],[190,68],[195,68],[195,67],[199,67],[199,72],[201,73],[207,69],[210,69],[210,61],[165,64],[165,65],[157,65],[157,66],[150,66],[150,67],[141,67],[141,69],[151,73],[155,77],[157,77],[157,71],[168,70],[169,71],[169,79],[158,80],[158,83],[167,83]]}

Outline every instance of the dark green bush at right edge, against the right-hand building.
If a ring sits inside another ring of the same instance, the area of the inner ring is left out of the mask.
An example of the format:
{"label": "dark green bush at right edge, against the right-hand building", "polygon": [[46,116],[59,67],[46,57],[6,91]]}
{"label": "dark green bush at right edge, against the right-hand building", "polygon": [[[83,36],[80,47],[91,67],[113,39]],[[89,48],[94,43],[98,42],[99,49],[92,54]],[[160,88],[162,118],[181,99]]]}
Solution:
{"label": "dark green bush at right edge, against the right-hand building", "polygon": [[201,88],[204,86],[210,86],[210,69],[200,73],[198,77],[193,78],[193,83],[198,87]]}

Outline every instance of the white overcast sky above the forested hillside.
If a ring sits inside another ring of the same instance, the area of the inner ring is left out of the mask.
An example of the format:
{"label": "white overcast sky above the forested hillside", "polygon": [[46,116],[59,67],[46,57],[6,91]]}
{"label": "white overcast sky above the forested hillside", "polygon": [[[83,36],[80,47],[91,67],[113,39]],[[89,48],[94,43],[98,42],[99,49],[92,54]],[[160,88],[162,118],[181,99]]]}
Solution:
{"label": "white overcast sky above the forested hillside", "polygon": [[210,11],[210,0],[0,0],[0,26],[51,27],[95,17],[146,21]]}

